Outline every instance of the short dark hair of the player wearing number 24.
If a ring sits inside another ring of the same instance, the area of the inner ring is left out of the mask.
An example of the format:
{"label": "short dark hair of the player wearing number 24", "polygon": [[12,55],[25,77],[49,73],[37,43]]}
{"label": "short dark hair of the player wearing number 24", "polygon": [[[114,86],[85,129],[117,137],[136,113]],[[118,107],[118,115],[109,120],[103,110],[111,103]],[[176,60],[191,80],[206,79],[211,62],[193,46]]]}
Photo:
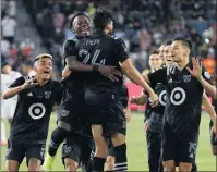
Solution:
{"label": "short dark hair of the player wearing number 24", "polygon": [[104,29],[106,25],[113,21],[111,13],[105,9],[97,9],[94,14],[93,23],[96,29]]}

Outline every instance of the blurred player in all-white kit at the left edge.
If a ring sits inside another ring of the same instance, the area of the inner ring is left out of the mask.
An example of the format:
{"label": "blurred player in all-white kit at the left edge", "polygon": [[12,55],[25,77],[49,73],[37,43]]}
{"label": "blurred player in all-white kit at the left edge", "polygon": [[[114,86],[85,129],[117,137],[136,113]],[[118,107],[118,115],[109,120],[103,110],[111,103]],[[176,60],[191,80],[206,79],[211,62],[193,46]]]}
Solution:
{"label": "blurred player in all-white kit at the left edge", "polygon": [[[1,90],[2,93],[17,78],[21,76],[21,73],[13,71],[12,66],[9,63],[2,64],[1,73]],[[1,100],[1,145],[7,146],[8,139],[5,134],[5,126],[2,119],[8,119],[11,124],[12,118],[15,111],[17,97],[13,97],[9,100]]]}

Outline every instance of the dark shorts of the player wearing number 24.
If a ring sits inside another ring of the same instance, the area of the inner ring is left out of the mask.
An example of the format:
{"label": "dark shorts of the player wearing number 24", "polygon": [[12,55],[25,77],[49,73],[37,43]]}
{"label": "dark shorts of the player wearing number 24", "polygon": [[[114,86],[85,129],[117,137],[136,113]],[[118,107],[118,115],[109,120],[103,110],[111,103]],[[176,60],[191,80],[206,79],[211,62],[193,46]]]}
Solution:
{"label": "dark shorts of the player wearing number 24", "polygon": [[108,109],[88,108],[86,120],[92,125],[103,125],[103,136],[110,138],[113,134],[126,134],[126,121],[123,107],[116,103]]}

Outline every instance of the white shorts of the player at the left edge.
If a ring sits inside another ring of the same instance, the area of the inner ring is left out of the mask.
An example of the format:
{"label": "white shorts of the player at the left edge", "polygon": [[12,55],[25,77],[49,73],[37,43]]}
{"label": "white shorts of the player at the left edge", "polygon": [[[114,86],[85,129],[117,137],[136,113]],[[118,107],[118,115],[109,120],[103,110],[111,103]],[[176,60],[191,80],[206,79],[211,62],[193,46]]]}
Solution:
{"label": "white shorts of the player at the left edge", "polygon": [[1,100],[1,118],[12,119],[15,112],[16,101],[14,99]]}

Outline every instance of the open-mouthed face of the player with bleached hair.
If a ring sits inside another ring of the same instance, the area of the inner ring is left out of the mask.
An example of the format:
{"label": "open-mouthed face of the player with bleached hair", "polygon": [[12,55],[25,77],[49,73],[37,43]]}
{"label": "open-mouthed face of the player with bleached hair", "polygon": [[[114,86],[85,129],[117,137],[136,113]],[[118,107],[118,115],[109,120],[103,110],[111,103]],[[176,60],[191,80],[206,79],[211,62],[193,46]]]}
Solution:
{"label": "open-mouthed face of the player with bleached hair", "polygon": [[35,70],[39,77],[47,81],[52,73],[52,61],[49,58],[41,58],[35,65]]}

